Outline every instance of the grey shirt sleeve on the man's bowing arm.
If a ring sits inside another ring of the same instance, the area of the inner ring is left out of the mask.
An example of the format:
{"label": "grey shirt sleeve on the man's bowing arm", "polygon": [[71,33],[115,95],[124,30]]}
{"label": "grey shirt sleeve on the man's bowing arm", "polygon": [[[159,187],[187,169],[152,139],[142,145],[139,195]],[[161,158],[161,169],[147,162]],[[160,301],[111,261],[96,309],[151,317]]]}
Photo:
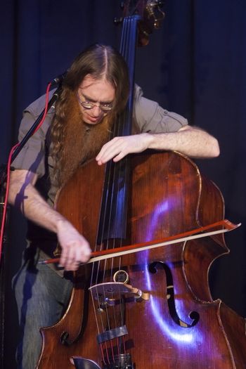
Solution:
{"label": "grey shirt sleeve on the man's bowing arm", "polygon": [[[18,141],[27,134],[34,124],[39,114],[44,109],[44,96],[32,103],[23,112],[22,121],[20,123]],[[20,153],[15,158],[12,167],[15,169],[27,169],[37,174],[39,178],[45,174],[45,141],[48,127],[51,123],[51,113],[48,112],[44,123],[25,143]]]}

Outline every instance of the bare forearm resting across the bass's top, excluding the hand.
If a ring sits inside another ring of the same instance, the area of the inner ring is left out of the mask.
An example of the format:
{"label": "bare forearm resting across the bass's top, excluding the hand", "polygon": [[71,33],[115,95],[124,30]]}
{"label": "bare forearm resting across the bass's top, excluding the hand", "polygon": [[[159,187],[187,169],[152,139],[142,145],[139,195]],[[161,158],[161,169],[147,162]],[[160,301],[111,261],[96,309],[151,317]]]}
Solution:
{"label": "bare forearm resting across the bass's top, excluding the hand", "polygon": [[155,150],[176,150],[189,157],[217,157],[219,143],[206,131],[187,127],[168,134],[148,134],[148,148]]}

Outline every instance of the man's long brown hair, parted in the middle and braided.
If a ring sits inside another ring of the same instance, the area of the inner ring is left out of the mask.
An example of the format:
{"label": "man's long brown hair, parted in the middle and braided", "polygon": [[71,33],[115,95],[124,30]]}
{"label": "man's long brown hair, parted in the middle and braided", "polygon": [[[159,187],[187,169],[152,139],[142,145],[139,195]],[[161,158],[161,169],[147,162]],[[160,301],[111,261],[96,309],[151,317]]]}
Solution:
{"label": "man's long brown hair, parted in the middle and braided", "polygon": [[[84,142],[77,143],[78,150],[81,148],[81,153],[75,154],[77,157],[68,157],[65,150],[66,136],[69,136],[69,121],[70,119],[76,119],[74,115],[71,116],[71,114],[73,114],[71,109],[76,110],[76,116],[79,117],[79,108],[77,108],[78,103],[75,103],[75,96],[79,85],[82,84],[86,75],[90,75],[93,79],[103,78],[115,87],[113,108],[100,123],[104,131],[112,127],[113,120],[116,115],[124,109],[129,95],[127,64],[115,48],[94,44],[86,48],[86,50],[82,51],[82,53],[75,58],[63,80],[63,90],[56,102],[56,112],[51,124],[52,156],[55,161],[54,175],[56,176],[59,186],[63,184],[64,179],[67,179],[72,174],[72,171],[75,171],[76,167],[78,167],[79,163],[84,160],[84,158],[89,158],[93,155],[91,149],[89,150],[90,153],[82,154],[83,149],[81,146],[84,145]],[[71,102],[74,103],[71,104]],[[90,129],[96,132],[98,128],[90,127]],[[83,129],[80,134],[84,135]],[[103,141],[105,141],[105,134],[101,136],[101,142],[100,139],[99,143],[98,140],[96,140],[98,145],[103,145]],[[76,140],[77,137],[74,139]],[[98,147],[95,149],[98,150]],[[87,150],[87,148],[84,150]],[[80,157],[80,155],[83,157]]]}

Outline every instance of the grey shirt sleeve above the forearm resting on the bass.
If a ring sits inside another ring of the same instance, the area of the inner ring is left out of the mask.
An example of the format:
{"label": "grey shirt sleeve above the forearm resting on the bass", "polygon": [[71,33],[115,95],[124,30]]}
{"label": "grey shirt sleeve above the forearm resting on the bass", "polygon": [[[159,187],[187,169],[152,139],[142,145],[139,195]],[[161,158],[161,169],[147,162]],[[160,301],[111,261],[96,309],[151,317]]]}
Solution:
{"label": "grey shirt sleeve above the forearm resting on the bass", "polygon": [[133,118],[134,126],[141,133],[176,132],[188,124],[187,119],[176,112],[169,112],[155,101],[144,98],[142,89],[137,85],[134,92]]}

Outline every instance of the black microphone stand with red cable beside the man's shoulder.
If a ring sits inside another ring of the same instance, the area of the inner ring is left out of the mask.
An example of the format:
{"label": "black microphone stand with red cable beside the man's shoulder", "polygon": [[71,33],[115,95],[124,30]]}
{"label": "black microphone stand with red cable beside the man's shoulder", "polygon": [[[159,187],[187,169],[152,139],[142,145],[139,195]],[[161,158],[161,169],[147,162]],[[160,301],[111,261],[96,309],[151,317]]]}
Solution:
{"label": "black microphone stand with red cable beside the man's shoulder", "polygon": [[[54,80],[54,82],[60,82]],[[52,83],[51,83],[52,85]],[[60,94],[60,91],[62,90],[62,84],[60,82],[58,89],[53,93],[53,96],[51,97],[50,101],[48,101],[48,110],[51,108],[53,103],[56,102],[58,99],[58,96]],[[45,110],[45,109],[44,109]],[[32,134],[34,134],[34,131],[37,129],[39,123],[41,122],[41,119],[44,116],[44,110],[41,112],[39,117],[35,120],[34,124],[30,128],[30,130],[27,132],[27,134],[22,138],[22,141],[20,141],[18,147],[13,152],[13,155],[11,157],[11,163],[20,153],[20,150],[24,147],[25,143],[30,139]],[[7,176],[7,166],[6,164],[1,164],[0,166],[0,224],[2,224],[3,221],[3,213],[4,213],[4,206],[7,206],[7,204],[4,204],[5,195],[6,195],[6,189],[5,189],[5,182],[6,182],[6,176]],[[11,167],[11,170],[14,170],[13,167]],[[7,216],[6,216],[6,224],[8,223],[8,208],[7,208]],[[6,228],[6,224],[4,225],[4,228]],[[4,326],[5,326],[5,270],[6,270],[6,255],[5,255],[5,248],[6,244],[8,243],[8,237],[6,235],[6,229],[4,229],[4,237],[3,237],[3,245],[1,250],[1,259],[0,259],[0,369],[4,369]]]}

